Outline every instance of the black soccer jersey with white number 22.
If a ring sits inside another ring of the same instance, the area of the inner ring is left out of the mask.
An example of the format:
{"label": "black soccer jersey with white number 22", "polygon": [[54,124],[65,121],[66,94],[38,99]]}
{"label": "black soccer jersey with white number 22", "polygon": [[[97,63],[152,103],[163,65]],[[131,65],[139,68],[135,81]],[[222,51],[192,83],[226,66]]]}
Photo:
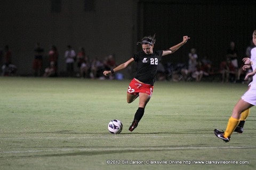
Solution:
{"label": "black soccer jersey with white number 22", "polygon": [[153,54],[145,54],[143,51],[134,54],[134,61],[137,62],[137,73],[135,79],[154,85],[156,81],[158,62],[161,60],[163,51],[159,50]]}

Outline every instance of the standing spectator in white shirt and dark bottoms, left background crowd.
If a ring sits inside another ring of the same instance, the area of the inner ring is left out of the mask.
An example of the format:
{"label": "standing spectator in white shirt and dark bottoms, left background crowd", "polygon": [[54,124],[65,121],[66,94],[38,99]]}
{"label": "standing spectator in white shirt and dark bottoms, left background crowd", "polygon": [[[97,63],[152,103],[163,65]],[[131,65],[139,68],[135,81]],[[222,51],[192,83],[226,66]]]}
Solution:
{"label": "standing spectator in white shirt and dark bottoms, left background crowd", "polygon": [[76,52],[70,45],[67,46],[67,50],[65,52],[65,58],[66,58],[66,69],[68,73],[68,77],[73,77],[74,74],[74,63],[76,60]]}

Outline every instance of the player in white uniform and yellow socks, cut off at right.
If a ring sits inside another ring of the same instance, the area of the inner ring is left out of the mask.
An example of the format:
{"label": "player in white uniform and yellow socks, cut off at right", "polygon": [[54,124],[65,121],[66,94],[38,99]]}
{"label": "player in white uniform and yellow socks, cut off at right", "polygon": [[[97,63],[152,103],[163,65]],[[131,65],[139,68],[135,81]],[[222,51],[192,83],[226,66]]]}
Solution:
{"label": "player in white uniform and yellow socks, cut off at right", "polygon": [[[253,44],[256,46],[256,30],[253,31],[252,34],[252,41]],[[215,135],[222,139],[225,142],[230,141],[231,134],[237,128],[237,125],[241,121],[241,114],[242,112],[249,112],[249,109],[252,106],[256,105],[256,47],[251,50],[251,58],[244,58],[243,59],[244,66],[243,69],[249,69],[252,67],[253,72],[247,73],[245,76],[245,80],[249,78],[249,76],[253,76],[252,82],[249,84],[250,88],[245,92],[245,94],[241,97],[238,103],[233,108],[233,112],[231,117],[229,118],[227,128],[225,132],[221,132],[218,129],[214,130]],[[249,113],[247,113],[248,115]]]}

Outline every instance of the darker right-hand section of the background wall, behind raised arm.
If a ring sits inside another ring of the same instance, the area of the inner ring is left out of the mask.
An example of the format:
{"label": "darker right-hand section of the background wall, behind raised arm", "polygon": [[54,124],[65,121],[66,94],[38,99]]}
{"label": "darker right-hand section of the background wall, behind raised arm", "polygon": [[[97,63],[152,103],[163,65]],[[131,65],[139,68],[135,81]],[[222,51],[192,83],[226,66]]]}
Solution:
{"label": "darker right-hand section of the background wall, behind raised arm", "polygon": [[156,33],[155,48],[169,48],[180,35],[191,38],[165,61],[186,62],[187,47],[194,47],[199,59],[206,55],[218,65],[234,41],[241,63],[256,29],[255,1],[140,1],[138,9],[138,37]]}

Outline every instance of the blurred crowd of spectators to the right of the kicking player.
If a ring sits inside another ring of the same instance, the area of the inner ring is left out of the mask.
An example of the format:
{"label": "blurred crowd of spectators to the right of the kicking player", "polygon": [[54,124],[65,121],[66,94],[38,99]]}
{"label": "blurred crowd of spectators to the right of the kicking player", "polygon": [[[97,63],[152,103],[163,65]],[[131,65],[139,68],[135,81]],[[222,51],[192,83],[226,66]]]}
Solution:
{"label": "blurred crowd of spectators to the right of the kicking player", "polygon": [[238,50],[234,41],[230,42],[229,48],[223,60],[220,63],[213,64],[208,56],[198,57],[195,48],[191,48],[188,54],[187,63],[165,63],[158,67],[158,80],[172,81],[202,81],[204,78],[208,81],[249,83],[251,79],[244,81],[247,72],[244,71],[243,65],[239,65],[238,60],[242,61],[244,57],[251,57],[251,49],[254,47],[252,41],[245,49],[244,56],[238,56]]}

